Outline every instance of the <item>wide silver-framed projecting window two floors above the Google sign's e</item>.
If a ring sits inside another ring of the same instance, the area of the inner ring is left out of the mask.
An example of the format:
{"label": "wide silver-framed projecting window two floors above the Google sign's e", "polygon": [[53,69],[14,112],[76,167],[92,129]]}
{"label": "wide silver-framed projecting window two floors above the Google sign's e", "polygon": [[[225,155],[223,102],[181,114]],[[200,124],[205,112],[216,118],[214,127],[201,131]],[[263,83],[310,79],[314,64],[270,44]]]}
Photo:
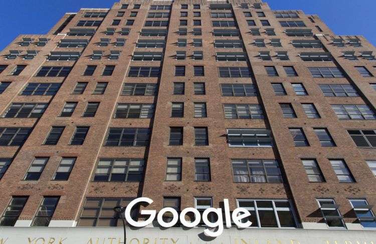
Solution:
{"label": "wide silver-framed projecting window two floors above the Google sign's e", "polygon": [[267,129],[227,129],[230,147],[271,147],[271,131]]}

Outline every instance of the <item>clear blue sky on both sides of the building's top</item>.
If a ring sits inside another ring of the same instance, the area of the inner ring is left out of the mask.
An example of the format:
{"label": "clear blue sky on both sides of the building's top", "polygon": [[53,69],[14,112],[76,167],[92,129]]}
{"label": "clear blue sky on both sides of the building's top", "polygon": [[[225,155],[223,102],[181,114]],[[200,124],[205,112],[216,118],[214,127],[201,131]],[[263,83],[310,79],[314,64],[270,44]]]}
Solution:
{"label": "clear blue sky on both sides of the building's top", "polygon": [[[111,8],[117,0],[0,0],[0,50],[20,34],[45,34],[66,12]],[[363,35],[376,46],[376,0],[269,0],[273,10],[316,14],[338,35]]]}

